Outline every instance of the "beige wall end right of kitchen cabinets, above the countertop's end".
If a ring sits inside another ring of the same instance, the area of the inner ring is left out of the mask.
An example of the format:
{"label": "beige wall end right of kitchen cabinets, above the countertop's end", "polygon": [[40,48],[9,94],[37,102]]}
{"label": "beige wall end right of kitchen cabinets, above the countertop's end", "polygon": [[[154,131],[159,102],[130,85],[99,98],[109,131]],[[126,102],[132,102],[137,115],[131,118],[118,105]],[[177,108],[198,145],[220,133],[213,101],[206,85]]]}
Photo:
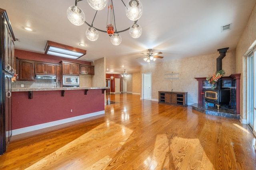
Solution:
{"label": "beige wall end right of kitchen cabinets, above the countertop's end", "polygon": [[94,61],[94,75],[92,76],[92,87],[105,87],[106,80],[106,58]]}

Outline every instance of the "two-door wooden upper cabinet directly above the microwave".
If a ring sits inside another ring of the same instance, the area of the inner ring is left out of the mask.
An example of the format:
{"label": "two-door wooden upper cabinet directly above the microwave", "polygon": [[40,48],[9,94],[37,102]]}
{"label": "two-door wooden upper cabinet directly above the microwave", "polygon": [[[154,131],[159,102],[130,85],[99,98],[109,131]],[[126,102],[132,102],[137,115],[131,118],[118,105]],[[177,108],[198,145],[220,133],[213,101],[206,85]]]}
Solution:
{"label": "two-door wooden upper cabinet directly above the microwave", "polygon": [[62,60],[62,75],[79,76],[79,63]]}

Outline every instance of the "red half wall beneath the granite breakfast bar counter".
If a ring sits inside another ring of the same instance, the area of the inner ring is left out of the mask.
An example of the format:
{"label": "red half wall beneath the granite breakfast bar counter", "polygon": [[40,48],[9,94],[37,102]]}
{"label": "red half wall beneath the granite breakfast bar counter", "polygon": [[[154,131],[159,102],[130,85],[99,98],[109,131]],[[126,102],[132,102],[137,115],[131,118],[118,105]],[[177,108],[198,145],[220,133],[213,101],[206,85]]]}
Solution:
{"label": "red half wall beneath the granite breakfast bar counter", "polygon": [[[70,109],[73,111],[70,113]],[[104,110],[104,94],[101,89],[12,92],[12,128],[19,129],[41,123],[66,119]]]}

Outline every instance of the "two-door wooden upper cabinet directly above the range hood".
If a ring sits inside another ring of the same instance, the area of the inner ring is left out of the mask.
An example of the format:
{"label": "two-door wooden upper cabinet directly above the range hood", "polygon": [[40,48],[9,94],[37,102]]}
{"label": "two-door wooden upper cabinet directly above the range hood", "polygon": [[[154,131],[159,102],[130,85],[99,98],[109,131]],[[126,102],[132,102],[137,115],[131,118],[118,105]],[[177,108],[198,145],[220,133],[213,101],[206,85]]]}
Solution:
{"label": "two-door wooden upper cabinet directly above the range hood", "polygon": [[53,63],[35,63],[35,74],[56,76],[56,64]]}

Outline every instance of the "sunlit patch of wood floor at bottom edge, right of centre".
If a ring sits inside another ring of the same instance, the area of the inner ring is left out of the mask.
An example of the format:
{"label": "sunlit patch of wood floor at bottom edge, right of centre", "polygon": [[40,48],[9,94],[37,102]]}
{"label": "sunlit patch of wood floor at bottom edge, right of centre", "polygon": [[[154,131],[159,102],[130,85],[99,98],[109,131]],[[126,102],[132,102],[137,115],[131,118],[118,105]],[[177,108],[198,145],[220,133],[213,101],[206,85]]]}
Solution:
{"label": "sunlit patch of wood floor at bottom edge, right of centre", "polygon": [[[163,160],[162,164],[157,160]],[[181,169],[182,167],[214,169],[199,139],[184,139],[181,137],[168,139],[164,134],[157,136],[154,152],[151,157],[144,160],[144,165],[150,170]]]}

